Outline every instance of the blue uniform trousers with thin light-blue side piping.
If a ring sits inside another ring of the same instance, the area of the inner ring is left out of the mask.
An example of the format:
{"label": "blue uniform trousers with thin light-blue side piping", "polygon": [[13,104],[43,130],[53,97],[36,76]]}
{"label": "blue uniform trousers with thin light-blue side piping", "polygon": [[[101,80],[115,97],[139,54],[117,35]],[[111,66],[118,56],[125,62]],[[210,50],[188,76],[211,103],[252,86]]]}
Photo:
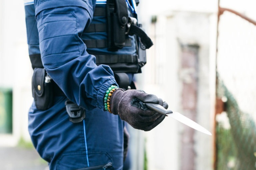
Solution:
{"label": "blue uniform trousers with thin light-blue side piping", "polygon": [[40,156],[50,170],[73,170],[86,167],[122,169],[123,127],[117,115],[100,109],[86,111],[81,123],[71,123],[66,113],[66,97],[55,97],[47,111],[29,110],[29,132]]}

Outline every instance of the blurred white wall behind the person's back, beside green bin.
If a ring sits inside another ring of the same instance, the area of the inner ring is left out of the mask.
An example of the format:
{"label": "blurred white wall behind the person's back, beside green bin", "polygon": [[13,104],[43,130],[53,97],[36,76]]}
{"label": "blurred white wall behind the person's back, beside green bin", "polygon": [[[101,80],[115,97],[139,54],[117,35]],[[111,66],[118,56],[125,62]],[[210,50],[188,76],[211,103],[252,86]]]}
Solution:
{"label": "blurred white wall behind the person's back, beside green bin", "polygon": [[22,0],[0,1],[0,24],[0,87],[13,89],[13,134],[0,134],[0,145],[15,145],[21,136],[30,140],[27,113],[32,102],[32,68]]}

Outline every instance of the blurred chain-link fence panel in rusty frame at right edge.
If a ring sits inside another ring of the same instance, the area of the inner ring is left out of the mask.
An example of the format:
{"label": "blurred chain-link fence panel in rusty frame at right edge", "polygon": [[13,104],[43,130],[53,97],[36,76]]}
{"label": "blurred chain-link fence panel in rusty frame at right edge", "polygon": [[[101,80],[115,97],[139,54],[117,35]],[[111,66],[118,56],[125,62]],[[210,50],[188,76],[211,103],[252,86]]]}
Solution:
{"label": "blurred chain-link fence panel in rusty frame at right edge", "polygon": [[[221,9],[217,54],[216,170],[256,169],[256,26]],[[217,102],[219,104],[220,102]]]}

